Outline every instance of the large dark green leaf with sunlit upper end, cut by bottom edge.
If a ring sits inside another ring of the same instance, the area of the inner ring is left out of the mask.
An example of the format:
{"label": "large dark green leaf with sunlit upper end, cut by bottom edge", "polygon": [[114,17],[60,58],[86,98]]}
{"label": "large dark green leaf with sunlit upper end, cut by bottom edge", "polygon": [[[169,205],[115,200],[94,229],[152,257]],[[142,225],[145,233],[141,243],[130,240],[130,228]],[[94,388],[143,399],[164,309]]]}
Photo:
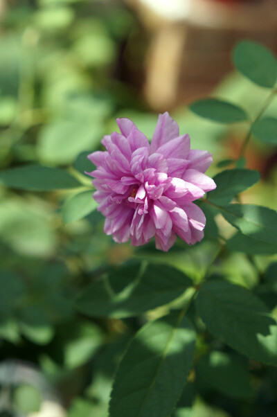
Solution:
{"label": "large dark green leaf with sunlit upper end, cut by bottom edge", "polygon": [[179,313],[143,326],[119,364],[109,416],[169,416],[188,378],[194,350],[195,331]]}

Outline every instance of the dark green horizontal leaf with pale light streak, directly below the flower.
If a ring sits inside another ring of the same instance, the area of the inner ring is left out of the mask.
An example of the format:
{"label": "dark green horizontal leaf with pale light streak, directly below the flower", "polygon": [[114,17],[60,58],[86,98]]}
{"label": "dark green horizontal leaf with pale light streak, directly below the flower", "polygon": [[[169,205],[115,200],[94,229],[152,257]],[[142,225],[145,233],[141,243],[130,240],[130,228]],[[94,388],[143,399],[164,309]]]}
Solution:
{"label": "dark green horizontal leaf with pale light streak, directly below the flower", "polygon": [[132,317],[170,303],[193,282],[167,265],[125,265],[92,283],[77,308],[92,317]]}

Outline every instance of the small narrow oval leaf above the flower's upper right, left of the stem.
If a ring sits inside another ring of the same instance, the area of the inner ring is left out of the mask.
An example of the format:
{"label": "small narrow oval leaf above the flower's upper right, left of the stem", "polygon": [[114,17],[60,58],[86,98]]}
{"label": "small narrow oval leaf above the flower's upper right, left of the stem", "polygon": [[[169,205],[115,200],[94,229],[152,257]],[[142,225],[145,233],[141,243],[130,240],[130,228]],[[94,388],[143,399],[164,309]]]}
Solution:
{"label": "small narrow oval leaf above the flower's upper right, left of the stem", "polygon": [[244,109],[217,98],[196,101],[190,105],[190,110],[198,116],[219,123],[238,123],[249,118]]}

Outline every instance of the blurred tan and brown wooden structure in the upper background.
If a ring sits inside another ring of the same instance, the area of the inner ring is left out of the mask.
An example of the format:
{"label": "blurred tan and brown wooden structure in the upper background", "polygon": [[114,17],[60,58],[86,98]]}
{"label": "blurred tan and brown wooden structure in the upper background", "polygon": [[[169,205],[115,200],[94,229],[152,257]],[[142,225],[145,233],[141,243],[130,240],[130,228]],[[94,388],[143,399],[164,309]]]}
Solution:
{"label": "blurred tan and brown wooden structure in the upper background", "polygon": [[277,52],[277,0],[125,0],[151,44],[144,94],[163,111],[205,96],[232,69],[238,40],[258,40]]}

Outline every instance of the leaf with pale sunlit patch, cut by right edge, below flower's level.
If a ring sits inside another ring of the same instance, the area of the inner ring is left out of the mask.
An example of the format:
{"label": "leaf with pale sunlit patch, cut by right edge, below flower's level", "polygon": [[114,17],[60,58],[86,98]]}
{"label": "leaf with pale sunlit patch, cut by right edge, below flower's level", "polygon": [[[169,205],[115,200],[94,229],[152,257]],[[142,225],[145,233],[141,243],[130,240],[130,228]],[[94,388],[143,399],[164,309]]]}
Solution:
{"label": "leaf with pale sunlit patch, cut by right edge, below flower's level", "polygon": [[229,204],[218,208],[227,222],[244,235],[277,245],[276,211],[251,204]]}

